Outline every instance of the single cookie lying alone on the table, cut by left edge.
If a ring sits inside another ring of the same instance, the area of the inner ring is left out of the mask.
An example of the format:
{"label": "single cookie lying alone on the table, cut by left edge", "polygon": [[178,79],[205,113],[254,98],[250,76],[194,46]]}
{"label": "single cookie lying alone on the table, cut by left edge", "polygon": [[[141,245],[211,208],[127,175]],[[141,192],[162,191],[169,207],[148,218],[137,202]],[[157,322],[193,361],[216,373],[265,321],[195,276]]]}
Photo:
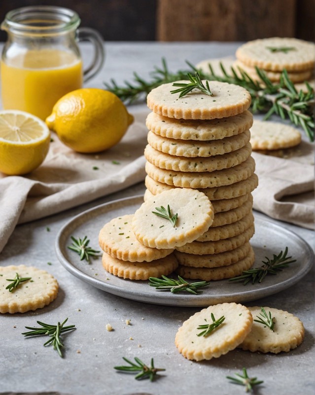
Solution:
{"label": "single cookie lying alone on the table, cut by left edge", "polygon": [[[9,292],[5,289],[15,279],[31,277]],[[0,267],[0,313],[25,313],[49,305],[58,294],[58,282],[45,270],[33,266]]]}

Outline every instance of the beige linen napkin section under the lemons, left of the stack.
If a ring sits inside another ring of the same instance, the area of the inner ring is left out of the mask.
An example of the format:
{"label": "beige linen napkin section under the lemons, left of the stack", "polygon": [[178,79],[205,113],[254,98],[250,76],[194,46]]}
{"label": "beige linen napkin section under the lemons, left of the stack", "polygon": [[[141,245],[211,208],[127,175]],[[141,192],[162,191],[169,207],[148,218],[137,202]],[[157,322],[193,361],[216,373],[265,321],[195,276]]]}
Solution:
{"label": "beige linen napkin section under the lemons, left of the stack", "polygon": [[26,176],[0,175],[0,251],[17,224],[33,221],[136,184],[145,177],[145,106],[123,139],[99,154],[78,154],[53,141],[44,162]]}

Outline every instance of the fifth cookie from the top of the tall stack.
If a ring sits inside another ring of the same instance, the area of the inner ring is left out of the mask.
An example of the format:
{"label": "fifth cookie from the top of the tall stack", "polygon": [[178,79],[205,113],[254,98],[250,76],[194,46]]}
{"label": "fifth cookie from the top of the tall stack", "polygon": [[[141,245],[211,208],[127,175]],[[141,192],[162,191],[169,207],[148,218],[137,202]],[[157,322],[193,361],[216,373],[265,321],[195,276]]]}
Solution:
{"label": "fifth cookie from the top of the tall stack", "polygon": [[252,157],[249,157],[245,162],[229,169],[200,172],[198,176],[194,172],[160,169],[149,162],[145,163],[145,171],[153,180],[174,185],[175,187],[214,188],[246,180],[255,171],[255,161]]}

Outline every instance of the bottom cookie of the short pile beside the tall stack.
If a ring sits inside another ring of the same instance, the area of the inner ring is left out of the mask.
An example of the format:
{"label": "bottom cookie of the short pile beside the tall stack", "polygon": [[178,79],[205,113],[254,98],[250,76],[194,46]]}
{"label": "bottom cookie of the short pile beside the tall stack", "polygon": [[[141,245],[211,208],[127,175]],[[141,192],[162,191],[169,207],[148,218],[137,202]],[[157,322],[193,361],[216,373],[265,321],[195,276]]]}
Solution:
{"label": "bottom cookie of the short pile beside the tall stack", "polygon": [[102,263],[108,273],[130,280],[147,280],[149,277],[168,276],[178,266],[174,254],[152,262],[129,262],[113,258],[104,252]]}

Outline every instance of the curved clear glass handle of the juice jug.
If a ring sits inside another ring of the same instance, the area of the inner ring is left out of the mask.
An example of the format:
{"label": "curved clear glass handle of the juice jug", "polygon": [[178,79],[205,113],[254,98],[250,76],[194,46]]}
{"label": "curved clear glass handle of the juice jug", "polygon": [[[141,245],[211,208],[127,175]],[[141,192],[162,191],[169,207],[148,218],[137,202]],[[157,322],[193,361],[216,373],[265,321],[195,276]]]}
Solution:
{"label": "curved clear glass handle of the juice jug", "polygon": [[91,64],[83,71],[83,81],[96,76],[102,69],[105,61],[105,49],[103,45],[103,38],[96,30],[91,28],[79,28],[77,30],[78,41],[89,41],[94,46],[94,57]]}

